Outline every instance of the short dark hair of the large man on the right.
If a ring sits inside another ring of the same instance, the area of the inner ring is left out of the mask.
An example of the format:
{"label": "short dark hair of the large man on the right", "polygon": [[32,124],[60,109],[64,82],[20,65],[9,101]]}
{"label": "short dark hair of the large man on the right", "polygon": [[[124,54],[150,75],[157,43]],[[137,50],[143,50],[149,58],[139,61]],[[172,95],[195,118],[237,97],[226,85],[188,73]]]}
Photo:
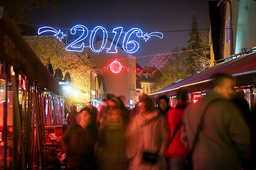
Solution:
{"label": "short dark hair of the large man on the right", "polygon": [[210,89],[213,89],[215,86],[221,86],[223,84],[223,79],[231,79],[235,81],[235,77],[233,77],[231,74],[218,72],[211,76],[211,81],[209,84]]}

